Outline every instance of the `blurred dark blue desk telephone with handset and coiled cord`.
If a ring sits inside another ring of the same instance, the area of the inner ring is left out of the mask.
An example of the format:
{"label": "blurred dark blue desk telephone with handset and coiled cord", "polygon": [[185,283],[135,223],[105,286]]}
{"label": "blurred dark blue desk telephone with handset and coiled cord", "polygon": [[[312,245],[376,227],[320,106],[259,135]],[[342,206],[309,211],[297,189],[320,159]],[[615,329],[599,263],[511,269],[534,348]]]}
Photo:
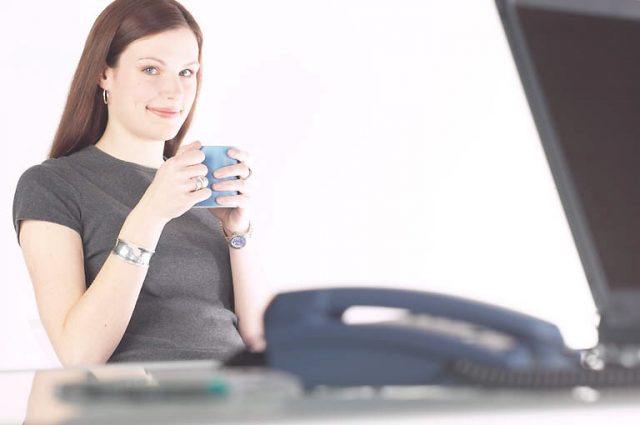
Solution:
{"label": "blurred dark blue desk telephone with handset and coiled cord", "polygon": [[[348,324],[353,306],[406,310],[402,320]],[[586,370],[558,328],[463,298],[385,288],[277,295],[265,313],[266,363],[317,385],[635,384],[637,371]],[[612,373],[614,375],[612,375]]]}

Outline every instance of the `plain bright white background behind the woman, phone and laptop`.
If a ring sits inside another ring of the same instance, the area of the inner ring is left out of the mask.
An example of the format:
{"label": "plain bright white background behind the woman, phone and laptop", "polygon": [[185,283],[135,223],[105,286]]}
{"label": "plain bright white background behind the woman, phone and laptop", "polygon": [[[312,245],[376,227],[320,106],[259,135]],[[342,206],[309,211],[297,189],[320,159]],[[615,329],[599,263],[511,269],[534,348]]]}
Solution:
{"label": "plain bright white background behind the woman, phone and laptop", "polygon": [[[1,1],[0,369],[54,363],[11,219],[108,4]],[[446,292],[594,343],[595,308],[491,0],[184,0],[205,34],[187,140],[256,159],[275,290]]]}

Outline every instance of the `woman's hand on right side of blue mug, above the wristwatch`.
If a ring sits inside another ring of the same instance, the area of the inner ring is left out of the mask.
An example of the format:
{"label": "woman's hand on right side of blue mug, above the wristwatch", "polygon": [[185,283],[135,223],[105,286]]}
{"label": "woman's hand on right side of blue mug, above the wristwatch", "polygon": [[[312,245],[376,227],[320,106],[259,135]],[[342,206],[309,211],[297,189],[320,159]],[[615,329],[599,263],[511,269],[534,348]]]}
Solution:
{"label": "woman's hand on right side of blue mug, above the wristwatch", "polygon": [[[224,177],[239,177],[238,179],[224,180],[214,183],[212,190],[237,190],[239,195],[219,196],[216,202],[226,208],[209,208],[215,215],[227,233],[243,233],[249,228],[249,216],[251,210],[251,156],[240,149],[231,148],[227,151],[230,158],[237,159],[238,164],[218,168],[213,172],[216,179]],[[214,194],[215,195],[215,194]]]}

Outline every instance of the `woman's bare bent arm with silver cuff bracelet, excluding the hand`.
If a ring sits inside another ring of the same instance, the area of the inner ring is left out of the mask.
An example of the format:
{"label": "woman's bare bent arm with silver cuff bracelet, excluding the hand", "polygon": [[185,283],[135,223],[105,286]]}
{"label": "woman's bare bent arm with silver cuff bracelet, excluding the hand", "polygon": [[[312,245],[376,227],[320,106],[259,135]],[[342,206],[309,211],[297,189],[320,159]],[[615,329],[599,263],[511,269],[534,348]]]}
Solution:
{"label": "woman's bare bent arm with silver cuff bracelet, excluding the hand", "polygon": [[[134,209],[118,237],[154,250],[163,227]],[[82,240],[74,230],[25,220],[20,246],[42,324],[62,365],[105,363],[129,324],[148,268],[110,254],[87,289]]]}

